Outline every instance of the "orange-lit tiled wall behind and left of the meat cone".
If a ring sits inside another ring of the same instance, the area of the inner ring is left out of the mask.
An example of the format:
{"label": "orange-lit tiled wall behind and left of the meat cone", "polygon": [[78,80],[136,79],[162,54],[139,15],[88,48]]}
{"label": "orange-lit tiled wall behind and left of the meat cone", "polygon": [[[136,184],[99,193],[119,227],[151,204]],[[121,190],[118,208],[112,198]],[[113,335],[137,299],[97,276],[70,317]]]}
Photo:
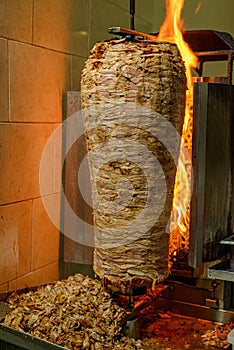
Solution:
{"label": "orange-lit tiled wall behind and left of the meat cone", "polygon": [[[40,194],[42,152],[62,121],[63,94],[80,89],[89,48],[110,37],[108,27],[129,25],[128,4],[0,1],[0,292],[59,276],[59,230]],[[152,6],[137,1],[139,30],[152,31]]]}

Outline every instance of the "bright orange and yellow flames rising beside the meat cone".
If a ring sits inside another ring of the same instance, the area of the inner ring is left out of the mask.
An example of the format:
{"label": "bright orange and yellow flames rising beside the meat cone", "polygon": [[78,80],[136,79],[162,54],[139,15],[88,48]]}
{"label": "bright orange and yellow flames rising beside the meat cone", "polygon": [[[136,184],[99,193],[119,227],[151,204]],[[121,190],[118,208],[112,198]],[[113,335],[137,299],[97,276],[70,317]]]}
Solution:
{"label": "bright orange and yellow flames rising beside the meat cone", "polygon": [[[187,76],[186,108],[182,132],[182,148],[180,152],[174,188],[173,210],[170,226],[169,256],[178,250],[188,250],[191,197],[191,154],[192,154],[192,111],[193,111],[193,82],[192,68],[197,66],[197,57],[183,39],[181,12],[185,0],[167,0],[167,12],[164,23],[160,28],[158,40],[176,43],[184,60]],[[189,158],[189,159],[188,159]]]}

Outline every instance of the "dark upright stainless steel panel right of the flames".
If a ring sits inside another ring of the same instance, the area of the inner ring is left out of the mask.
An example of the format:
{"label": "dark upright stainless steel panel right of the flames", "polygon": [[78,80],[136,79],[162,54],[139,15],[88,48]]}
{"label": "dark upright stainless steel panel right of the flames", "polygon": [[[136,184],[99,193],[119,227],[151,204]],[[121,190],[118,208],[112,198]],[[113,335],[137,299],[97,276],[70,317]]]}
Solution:
{"label": "dark upright stainless steel panel right of the flames", "polygon": [[225,254],[220,241],[233,225],[233,102],[233,85],[194,84],[194,189],[189,248],[192,267]]}

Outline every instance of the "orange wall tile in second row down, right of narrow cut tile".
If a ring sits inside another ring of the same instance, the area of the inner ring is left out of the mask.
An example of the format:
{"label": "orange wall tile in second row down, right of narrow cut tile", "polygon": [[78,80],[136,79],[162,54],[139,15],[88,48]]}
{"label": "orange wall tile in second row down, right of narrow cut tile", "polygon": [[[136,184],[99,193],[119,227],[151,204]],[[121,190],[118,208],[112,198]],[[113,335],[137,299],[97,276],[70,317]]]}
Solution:
{"label": "orange wall tile in second row down, right of narrow cut tile", "polygon": [[60,122],[63,92],[71,89],[70,56],[10,41],[9,60],[10,121]]}

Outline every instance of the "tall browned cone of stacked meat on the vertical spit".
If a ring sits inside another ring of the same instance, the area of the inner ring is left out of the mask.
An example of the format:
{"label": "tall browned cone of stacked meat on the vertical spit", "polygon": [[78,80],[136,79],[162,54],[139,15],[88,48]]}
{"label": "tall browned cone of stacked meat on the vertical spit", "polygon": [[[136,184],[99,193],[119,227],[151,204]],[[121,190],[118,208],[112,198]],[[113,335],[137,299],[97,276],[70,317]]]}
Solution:
{"label": "tall browned cone of stacked meat on the vertical spit", "polygon": [[185,90],[184,63],[170,43],[100,42],[83,69],[94,270],[113,291],[154,289],[168,276],[180,148],[180,137],[169,129],[182,134]]}

